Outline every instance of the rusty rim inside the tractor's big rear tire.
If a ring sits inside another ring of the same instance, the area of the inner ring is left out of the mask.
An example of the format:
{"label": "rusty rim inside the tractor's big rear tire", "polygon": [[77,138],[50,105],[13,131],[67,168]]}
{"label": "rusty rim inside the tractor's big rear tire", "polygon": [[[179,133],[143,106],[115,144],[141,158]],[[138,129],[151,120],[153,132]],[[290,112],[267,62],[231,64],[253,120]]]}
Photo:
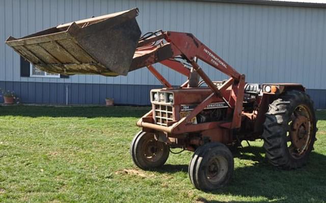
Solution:
{"label": "rusty rim inside the tractor's big rear tire", "polygon": [[294,159],[301,159],[310,147],[313,133],[312,114],[306,105],[297,106],[290,116],[287,147]]}

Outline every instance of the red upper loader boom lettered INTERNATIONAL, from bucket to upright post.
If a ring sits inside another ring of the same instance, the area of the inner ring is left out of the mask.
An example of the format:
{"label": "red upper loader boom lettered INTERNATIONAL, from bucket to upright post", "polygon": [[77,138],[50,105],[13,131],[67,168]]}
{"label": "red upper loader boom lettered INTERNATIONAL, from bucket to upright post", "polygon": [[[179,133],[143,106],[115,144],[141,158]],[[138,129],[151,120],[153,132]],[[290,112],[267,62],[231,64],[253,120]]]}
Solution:
{"label": "red upper loader boom lettered INTERNATIONAL, from bucket to upright post", "polygon": [[[150,43],[155,43],[159,40],[161,41],[157,45],[148,46]],[[163,40],[166,40],[166,43]],[[129,71],[162,62],[178,55],[181,55],[189,63],[195,62],[194,58],[198,57],[200,60],[235,80],[239,80],[241,76],[193,34],[163,31],[160,31],[159,34],[153,37],[138,42],[138,47],[133,56]]]}

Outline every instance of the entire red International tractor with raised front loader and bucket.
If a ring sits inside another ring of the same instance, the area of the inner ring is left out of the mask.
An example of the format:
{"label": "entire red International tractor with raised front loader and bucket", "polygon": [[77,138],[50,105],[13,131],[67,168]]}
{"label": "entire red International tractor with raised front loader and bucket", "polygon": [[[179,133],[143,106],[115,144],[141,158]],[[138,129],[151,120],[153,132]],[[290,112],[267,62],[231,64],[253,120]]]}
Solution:
{"label": "entire red International tractor with raised front loader and bucket", "polygon": [[[138,9],[62,24],[6,41],[41,70],[61,74],[126,75],[147,67],[165,86],[151,90],[152,109],[137,125],[130,147],[135,165],[146,170],[167,161],[170,148],[193,151],[188,173],[200,190],[225,186],[234,162],[230,148],[264,140],[276,167],[307,163],[316,140],[313,101],[301,84],[247,83],[221,57],[189,33],[156,31],[141,37]],[[201,60],[229,76],[211,81]],[[152,65],[160,63],[187,80],[172,86]]]}

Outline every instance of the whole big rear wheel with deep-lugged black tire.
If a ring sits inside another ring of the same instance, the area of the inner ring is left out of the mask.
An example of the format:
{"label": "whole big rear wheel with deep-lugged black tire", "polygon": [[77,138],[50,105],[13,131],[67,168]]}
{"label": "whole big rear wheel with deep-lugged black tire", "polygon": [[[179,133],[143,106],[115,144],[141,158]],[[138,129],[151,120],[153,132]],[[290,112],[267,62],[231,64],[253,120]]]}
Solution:
{"label": "whole big rear wheel with deep-lugged black tire", "polygon": [[301,91],[288,91],[265,114],[264,148],[268,161],[282,169],[307,163],[316,136],[313,101]]}

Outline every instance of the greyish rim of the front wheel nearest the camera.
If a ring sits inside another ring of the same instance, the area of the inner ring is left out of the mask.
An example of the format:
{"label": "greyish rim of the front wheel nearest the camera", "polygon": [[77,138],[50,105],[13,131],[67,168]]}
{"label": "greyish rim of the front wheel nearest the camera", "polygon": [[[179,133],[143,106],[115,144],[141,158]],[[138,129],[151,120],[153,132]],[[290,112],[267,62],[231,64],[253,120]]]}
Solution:
{"label": "greyish rim of the front wheel nearest the camera", "polygon": [[208,160],[206,177],[211,184],[219,184],[228,171],[228,161],[223,156],[214,156]]}

